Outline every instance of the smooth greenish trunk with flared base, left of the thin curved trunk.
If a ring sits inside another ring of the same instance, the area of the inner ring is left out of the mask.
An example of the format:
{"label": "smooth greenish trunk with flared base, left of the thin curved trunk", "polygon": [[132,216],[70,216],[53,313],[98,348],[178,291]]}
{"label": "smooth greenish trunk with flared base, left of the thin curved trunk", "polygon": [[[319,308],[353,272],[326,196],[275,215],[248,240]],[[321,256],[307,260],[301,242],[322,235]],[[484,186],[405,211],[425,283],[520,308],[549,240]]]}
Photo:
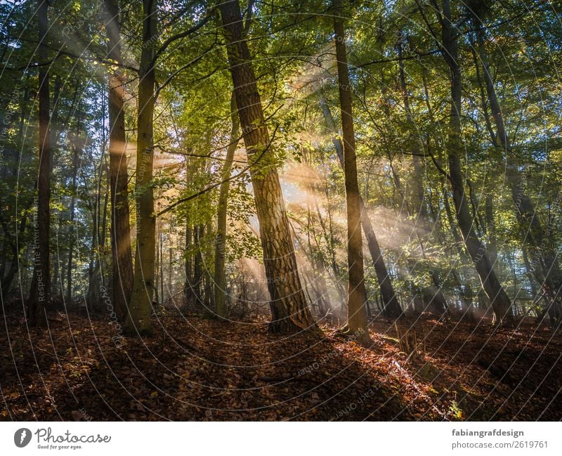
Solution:
{"label": "smooth greenish trunk with flared base, left of the thin curved trunk", "polygon": [[150,314],[155,283],[154,191],[152,189],[153,126],[155,105],[156,0],[143,0],[143,51],[138,82],[136,150],[137,236],[133,289],[124,331],[128,335],[150,334]]}

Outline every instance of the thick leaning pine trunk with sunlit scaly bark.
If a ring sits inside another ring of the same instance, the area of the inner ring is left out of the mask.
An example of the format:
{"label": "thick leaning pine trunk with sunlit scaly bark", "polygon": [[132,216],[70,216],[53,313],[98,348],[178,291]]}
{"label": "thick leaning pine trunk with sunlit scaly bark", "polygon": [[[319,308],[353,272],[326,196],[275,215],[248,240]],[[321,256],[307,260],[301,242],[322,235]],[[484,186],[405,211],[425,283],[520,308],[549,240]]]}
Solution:
{"label": "thick leaning pine trunk with sunlit scaly bark", "polygon": [[251,183],[270,293],[270,330],[306,330],[315,327],[315,323],[301,287],[275,153],[242,30],[240,4],[238,0],[228,0],[220,5],[220,9],[238,115],[251,165]]}

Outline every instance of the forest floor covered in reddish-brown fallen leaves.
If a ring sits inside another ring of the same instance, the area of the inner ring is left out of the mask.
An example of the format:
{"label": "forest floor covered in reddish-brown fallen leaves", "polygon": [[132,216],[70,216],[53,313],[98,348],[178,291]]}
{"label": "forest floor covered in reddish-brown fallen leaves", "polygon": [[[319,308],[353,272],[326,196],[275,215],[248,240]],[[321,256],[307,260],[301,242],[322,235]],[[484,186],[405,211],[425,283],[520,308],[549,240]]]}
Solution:
{"label": "forest floor covered in reddish-brown fallen leaves", "polygon": [[370,348],[327,325],[298,337],[196,315],[152,325],[153,337],[115,339],[98,317],[53,313],[48,331],[28,331],[7,313],[0,420],[562,419],[562,337],[546,328],[426,317],[425,351],[407,360],[386,320]]}

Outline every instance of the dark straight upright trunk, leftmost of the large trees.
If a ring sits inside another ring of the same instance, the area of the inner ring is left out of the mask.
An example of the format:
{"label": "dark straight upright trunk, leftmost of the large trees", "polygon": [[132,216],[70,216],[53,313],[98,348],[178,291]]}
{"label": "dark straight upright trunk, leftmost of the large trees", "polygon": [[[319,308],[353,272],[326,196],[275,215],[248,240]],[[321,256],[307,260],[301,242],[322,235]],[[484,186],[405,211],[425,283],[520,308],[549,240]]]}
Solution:
{"label": "dark straight upright trunk, leftmost of the large trees", "polygon": [[27,303],[27,323],[30,326],[46,326],[45,305],[51,287],[49,263],[49,231],[51,228],[51,144],[49,141],[49,84],[46,35],[48,30],[46,0],[38,0],[39,21],[39,176],[37,177],[37,219],[34,220],[34,268],[30,297]]}

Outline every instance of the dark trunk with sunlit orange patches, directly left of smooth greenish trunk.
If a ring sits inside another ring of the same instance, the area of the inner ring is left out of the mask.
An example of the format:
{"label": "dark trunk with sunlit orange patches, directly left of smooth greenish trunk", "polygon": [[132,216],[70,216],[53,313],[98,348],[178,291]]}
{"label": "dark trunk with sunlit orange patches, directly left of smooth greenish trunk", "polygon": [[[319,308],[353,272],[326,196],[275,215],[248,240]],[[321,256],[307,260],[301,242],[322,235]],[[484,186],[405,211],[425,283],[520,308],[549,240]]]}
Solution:
{"label": "dark trunk with sunlit orange patches, directly left of smooth greenish trunk", "polygon": [[[121,25],[117,0],[105,0],[107,18],[107,55],[122,63]],[[116,68],[109,74],[110,122],[110,187],[111,187],[111,253],[113,307],[117,318],[123,321],[133,288],[133,259],[131,254],[131,226],[129,221],[129,195],[127,173],[124,77]]]}

